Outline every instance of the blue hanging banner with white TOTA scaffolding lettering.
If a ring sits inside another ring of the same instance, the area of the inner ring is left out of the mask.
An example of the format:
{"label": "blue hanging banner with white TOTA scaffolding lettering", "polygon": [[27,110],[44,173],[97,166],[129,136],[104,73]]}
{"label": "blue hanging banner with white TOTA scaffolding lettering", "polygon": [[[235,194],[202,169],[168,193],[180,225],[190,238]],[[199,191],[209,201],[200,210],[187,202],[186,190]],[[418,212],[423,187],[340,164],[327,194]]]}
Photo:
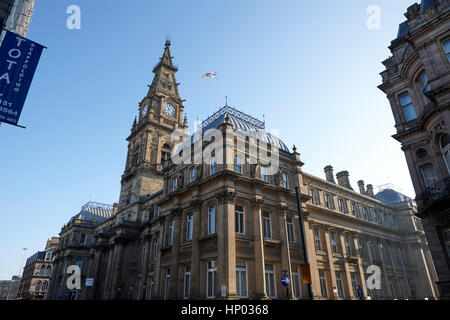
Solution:
{"label": "blue hanging banner with white TOTA scaffolding lettering", "polygon": [[17,125],[44,46],[8,30],[0,41],[0,122]]}

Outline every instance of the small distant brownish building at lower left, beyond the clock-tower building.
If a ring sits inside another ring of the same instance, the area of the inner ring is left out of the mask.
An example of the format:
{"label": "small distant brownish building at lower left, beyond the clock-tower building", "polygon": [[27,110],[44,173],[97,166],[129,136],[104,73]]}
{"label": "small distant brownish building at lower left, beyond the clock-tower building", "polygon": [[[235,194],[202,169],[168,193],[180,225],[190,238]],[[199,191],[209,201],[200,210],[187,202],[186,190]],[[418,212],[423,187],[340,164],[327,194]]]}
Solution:
{"label": "small distant brownish building at lower left, beyond the clock-tower building", "polygon": [[53,272],[53,253],[59,243],[59,238],[47,240],[45,251],[36,252],[29,257],[23,268],[17,299],[45,300]]}

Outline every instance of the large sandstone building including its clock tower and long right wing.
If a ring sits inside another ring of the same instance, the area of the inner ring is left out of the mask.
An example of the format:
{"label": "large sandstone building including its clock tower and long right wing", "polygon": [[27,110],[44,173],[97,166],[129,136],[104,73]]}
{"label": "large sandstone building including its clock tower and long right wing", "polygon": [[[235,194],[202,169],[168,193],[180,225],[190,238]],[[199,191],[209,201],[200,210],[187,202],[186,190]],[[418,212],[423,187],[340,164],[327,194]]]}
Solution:
{"label": "large sandstone building including its clock tower and long right wing", "polygon": [[[297,203],[315,299],[332,298],[334,287],[342,298],[356,299],[358,283],[375,299],[436,298],[434,267],[412,203],[383,204],[363,183],[363,193],[354,192],[346,172],[334,183],[331,167],[327,180],[303,172],[295,147],[289,150],[264,122],[228,105],[187,135],[169,41],[153,72],[127,138],[117,212],[92,225],[83,252],[67,250],[62,241],[49,299],[67,298],[65,270],[80,257],[82,288],[71,297],[82,300],[305,299]],[[386,260],[377,255],[380,243],[393,250],[395,263],[390,253]],[[366,267],[375,262],[391,280],[383,281],[382,295],[364,285]],[[285,273],[292,280],[287,292]]]}

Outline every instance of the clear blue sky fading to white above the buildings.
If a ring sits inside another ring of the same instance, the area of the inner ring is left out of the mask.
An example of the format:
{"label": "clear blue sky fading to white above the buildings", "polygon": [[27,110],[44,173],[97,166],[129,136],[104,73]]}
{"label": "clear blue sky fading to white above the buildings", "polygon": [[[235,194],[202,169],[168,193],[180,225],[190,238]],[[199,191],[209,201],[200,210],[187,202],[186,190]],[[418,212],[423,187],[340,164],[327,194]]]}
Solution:
{"label": "clear blue sky fading to white above the buildings", "polygon": [[[220,103],[262,119],[295,144],[304,170],[331,164],[414,196],[381,83],[381,61],[410,0],[39,0],[28,38],[42,55],[20,124],[0,126],[0,279],[42,250],[92,199],[118,200],[125,138],[166,37],[190,125]],[[81,30],[66,27],[69,5]],[[381,29],[366,27],[370,5]]]}

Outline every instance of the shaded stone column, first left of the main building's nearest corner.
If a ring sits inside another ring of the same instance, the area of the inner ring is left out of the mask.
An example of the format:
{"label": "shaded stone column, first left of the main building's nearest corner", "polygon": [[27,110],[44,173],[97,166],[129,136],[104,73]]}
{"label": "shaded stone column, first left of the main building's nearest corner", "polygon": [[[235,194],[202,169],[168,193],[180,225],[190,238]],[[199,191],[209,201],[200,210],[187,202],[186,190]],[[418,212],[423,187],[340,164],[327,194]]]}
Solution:
{"label": "shaded stone column, first left of the main building's nearest corner", "polygon": [[200,299],[200,238],[202,226],[202,203],[200,200],[191,202],[194,217],[191,255],[191,299]]}

